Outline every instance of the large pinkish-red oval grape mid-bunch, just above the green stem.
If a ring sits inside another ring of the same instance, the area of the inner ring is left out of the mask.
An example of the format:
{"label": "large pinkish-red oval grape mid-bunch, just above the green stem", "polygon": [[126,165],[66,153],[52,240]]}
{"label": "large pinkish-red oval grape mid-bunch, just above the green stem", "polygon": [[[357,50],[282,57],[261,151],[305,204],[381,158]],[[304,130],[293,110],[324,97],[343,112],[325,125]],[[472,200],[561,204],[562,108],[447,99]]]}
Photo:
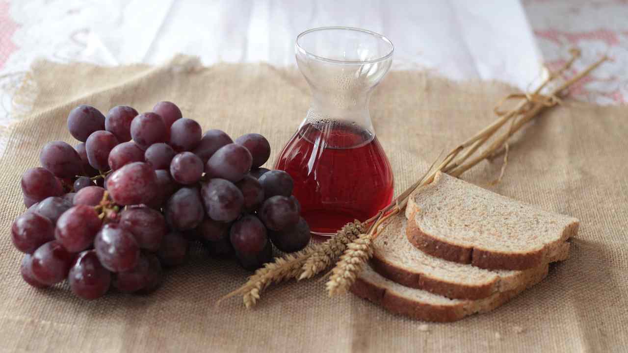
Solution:
{"label": "large pinkish-red oval grape mid-bunch, just above the green stem", "polygon": [[119,205],[150,204],[157,195],[156,179],[151,165],[134,162],[111,173],[107,191]]}

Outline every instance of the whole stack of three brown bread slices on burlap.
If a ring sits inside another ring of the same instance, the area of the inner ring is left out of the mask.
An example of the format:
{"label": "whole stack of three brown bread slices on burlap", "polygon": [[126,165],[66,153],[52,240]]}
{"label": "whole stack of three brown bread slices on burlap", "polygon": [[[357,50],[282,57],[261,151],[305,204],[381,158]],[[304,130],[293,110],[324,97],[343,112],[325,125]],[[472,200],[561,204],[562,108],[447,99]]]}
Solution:
{"label": "whole stack of three brown bread slices on burlap", "polygon": [[579,224],[443,173],[411,195],[406,217],[389,221],[351,290],[435,322],[487,312],[539,283],[568,258]]}

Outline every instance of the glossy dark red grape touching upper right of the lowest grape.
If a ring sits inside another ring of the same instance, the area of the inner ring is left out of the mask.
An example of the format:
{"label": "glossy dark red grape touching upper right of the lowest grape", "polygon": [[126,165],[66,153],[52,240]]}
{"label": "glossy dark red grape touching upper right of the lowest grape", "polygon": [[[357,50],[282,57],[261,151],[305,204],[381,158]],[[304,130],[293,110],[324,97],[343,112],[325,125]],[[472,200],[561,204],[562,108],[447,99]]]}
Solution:
{"label": "glossy dark red grape touching upper right of the lowest grape", "polygon": [[96,234],[94,249],[102,266],[109,271],[129,271],[138,264],[138,242],[119,224],[104,225]]}

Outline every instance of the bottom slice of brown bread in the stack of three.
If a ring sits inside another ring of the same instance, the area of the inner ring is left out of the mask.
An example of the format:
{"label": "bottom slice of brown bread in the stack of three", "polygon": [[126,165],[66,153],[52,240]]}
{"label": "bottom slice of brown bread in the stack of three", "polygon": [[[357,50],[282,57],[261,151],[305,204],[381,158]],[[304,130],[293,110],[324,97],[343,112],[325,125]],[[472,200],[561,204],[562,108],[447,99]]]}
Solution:
{"label": "bottom slice of brown bread in the stack of three", "polygon": [[360,298],[370,300],[394,313],[418,320],[452,322],[474,313],[489,312],[499,307],[526,288],[543,280],[547,275],[547,270],[547,266],[538,268],[526,283],[512,290],[497,292],[479,300],[460,300],[399,285],[399,283],[387,280],[367,264],[350,290]]}

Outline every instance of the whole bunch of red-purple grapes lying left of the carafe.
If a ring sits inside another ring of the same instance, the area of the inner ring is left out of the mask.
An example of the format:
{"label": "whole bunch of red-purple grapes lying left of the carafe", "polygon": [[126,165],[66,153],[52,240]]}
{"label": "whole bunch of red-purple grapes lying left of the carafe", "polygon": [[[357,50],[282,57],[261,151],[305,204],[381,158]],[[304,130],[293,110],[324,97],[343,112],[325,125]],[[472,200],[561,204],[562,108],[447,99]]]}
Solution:
{"label": "whole bunch of red-purple grapes lying left of the carafe", "polygon": [[31,286],[67,279],[85,299],[150,293],[192,242],[249,270],[271,261],[273,244],[290,253],[310,242],[292,178],[261,167],[271,151],[260,134],[202,134],[171,102],[106,116],[78,106],[67,126],[80,142],[47,143],[21,178],[27,210],[11,238]]}

